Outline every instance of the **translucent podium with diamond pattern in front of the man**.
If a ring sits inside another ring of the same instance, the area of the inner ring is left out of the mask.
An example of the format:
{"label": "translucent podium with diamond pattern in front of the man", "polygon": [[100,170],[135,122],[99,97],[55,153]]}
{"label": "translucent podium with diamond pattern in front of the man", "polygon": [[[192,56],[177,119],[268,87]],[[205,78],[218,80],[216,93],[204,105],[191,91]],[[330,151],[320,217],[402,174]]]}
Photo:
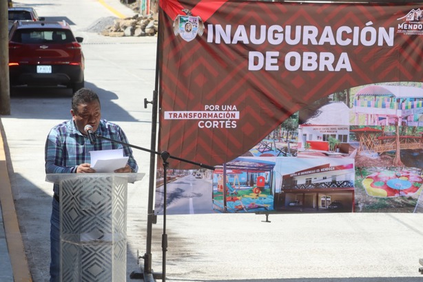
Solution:
{"label": "translucent podium with diamond pattern in front of the man", "polygon": [[144,175],[47,174],[60,188],[61,281],[126,281],[127,183]]}

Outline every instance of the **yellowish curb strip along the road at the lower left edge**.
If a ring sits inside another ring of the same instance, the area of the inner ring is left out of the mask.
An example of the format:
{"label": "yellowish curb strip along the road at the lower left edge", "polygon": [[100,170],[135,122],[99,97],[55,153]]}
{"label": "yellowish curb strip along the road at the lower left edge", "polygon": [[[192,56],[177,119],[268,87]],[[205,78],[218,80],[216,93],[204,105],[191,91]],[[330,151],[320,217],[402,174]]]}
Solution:
{"label": "yellowish curb strip along the road at the lower left edge", "polygon": [[12,273],[14,281],[32,282],[30,268],[28,266],[28,260],[26,258],[22,236],[19,230],[17,213],[14,208],[12,185],[10,185],[6,153],[4,150],[5,143],[3,142],[3,137],[6,140],[6,134],[4,132],[1,119],[0,133],[0,204],[4,231],[6,234],[6,244],[10,256],[10,263],[12,265]]}

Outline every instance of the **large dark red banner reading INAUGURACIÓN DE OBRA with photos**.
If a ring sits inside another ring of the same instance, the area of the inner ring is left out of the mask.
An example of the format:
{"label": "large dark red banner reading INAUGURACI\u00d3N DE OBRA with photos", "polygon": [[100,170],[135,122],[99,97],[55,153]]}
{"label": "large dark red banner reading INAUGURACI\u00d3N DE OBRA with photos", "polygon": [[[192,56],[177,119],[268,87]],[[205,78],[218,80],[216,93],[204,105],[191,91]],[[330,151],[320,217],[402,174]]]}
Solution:
{"label": "large dark red banner reading INAUGURACI\u00d3N DE OBRA with photos", "polygon": [[160,6],[169,213],[417,210],[423,3]]}

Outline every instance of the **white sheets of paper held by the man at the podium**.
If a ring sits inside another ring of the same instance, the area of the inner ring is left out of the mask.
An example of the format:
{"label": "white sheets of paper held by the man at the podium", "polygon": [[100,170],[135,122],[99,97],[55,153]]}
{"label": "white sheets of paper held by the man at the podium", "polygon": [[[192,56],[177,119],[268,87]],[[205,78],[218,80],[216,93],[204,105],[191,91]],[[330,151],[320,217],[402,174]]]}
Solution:
{"label": "white sheets of paper held by the man at the podium", "polygon": [[123,149],[91,151],[91,168],[96,172],[114,172],[125,168],[129,157],[123,157]]}

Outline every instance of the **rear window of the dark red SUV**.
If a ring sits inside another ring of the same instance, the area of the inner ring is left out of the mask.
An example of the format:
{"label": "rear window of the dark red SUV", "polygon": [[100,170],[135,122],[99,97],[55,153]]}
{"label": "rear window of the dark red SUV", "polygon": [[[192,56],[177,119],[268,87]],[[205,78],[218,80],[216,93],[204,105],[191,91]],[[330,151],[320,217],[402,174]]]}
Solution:
{"label": "rear window of the dark red SUV", "polygon": [[74,36],[70,30],[17,30],[12,41],[16,43],[38,44],[38,43],[71,43]]}

